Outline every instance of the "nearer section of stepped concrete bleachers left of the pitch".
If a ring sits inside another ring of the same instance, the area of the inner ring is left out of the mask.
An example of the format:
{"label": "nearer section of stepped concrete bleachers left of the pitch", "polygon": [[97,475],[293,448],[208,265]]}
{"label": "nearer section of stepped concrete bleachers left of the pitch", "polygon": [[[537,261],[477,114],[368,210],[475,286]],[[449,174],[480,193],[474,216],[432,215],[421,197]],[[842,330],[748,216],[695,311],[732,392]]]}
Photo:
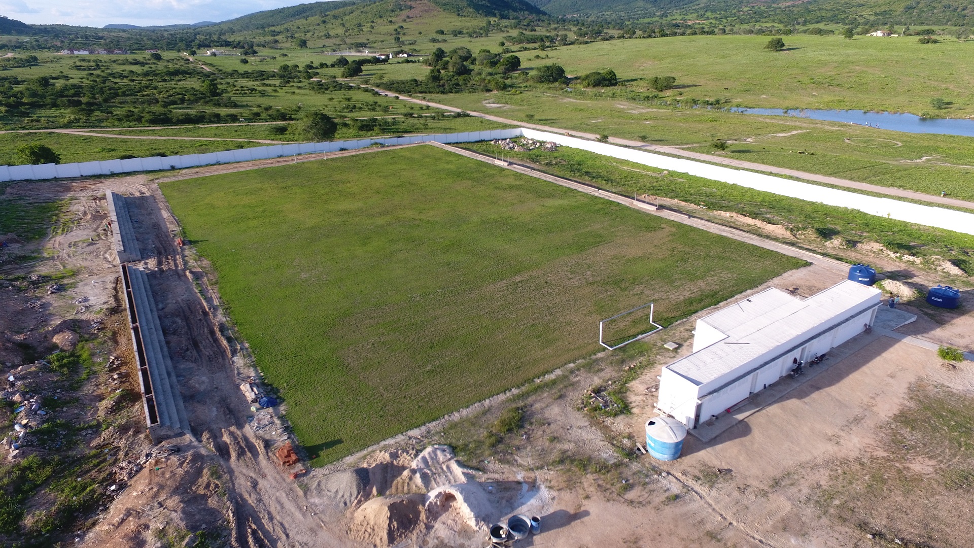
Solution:
{"label": "nearer section of stepped concrete bleachers left of the pitch", "polygon": [[191,434],[148,278],[144,270],[129,264],[122,270],[149,434],[153,442],[181,432]]}

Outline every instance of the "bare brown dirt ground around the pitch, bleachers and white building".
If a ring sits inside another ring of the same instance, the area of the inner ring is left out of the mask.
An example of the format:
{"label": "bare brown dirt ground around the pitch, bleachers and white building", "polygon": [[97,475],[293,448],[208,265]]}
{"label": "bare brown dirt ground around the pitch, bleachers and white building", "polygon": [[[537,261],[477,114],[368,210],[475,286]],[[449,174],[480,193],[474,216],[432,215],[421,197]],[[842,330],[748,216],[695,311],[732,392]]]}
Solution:
{"label": "bare brown dirt ground around the pitch, bleachers and white building", "polygon": [[[217,166],[178,177],[278,163]],[[911,497],[917,485],[941,486],[948,461],[902,449],[912,446],[897,443],[901,434],[891,426],[909,411],[918,387],[974,393],[970,364],[947,368],[931,351],[888,338],[833,364],[713,441],[689,438],[677,461],[639,456],[635,444],[652,416],[656,374],[689,352],[694,318],[292,480],[287,473],[300,465],[284,470],[273,455],[286,429],[244,401],[238,385],[252,374],[249,355],[227,325],[206,261],[175,246],[178,224],[155,182],[127,176],[6,189],[7,196],[72,199],[68,228],[44,243],[53,252],[16,270],[78,267],[80,282],[62,296],[31,290],[44,301],[41,310],[23,306],[19,290],[0,291],[0,327],[34,343],[53,337],[52,326],[65,318],[83,320],[87,313],[94,321],[94,310],[117,307],[110,240],[94,237],[106,218],[98,196],[108,189],[134,196],[141,266],[149,272],[192,427],[192,437],[163,444],[177,452],[142,458],[147,437],[131,431],[119,459],[142,467],[113,491],[117,498],[93,527],[74,535],[81,545],[478,547],[486,544],[486,525],[513,513],[542,518],[543,532],[518,546],[872,547],[900,540],[954,547],[974,537],[967,491],[929,487],[922,500]],[[906,287],[944,279],[879,250],[856,253]],[[810,295],[841,279],[834,264],[821,261],[754,291],[774,286]],[[903,308],[918,313],[918,321],[899,331],[974,350],[974,319],[965,312],[974,302],[971,292],[963,295],[958,311],[907,299]],[[78,300],[90,303],[86,312],[75,314]],[[661,348],[669,340],[681,348]],[[118,353],[125,351],[121,342]],[[16,364],[12,346],[0,352],[0,362]],[[609,393],[623,383],[628,389],[618,394],[631,413],[581,411],[587,393]],[[105,398],[103,390],[92,390],[85,401],[103,407]],[[516,424],[499,426],[510,410],[521,413]],[[101,441],[119,443],[113,432]],[[437,444],[453,447],[458,458],[441,451],[437,460],[424,451]],[[899,482],[883,484],[898,494],[880,509],[867,496],[879,492],[875,482],[862,479],[877,471]],[[899,518],[903,513],[910,518]]]}

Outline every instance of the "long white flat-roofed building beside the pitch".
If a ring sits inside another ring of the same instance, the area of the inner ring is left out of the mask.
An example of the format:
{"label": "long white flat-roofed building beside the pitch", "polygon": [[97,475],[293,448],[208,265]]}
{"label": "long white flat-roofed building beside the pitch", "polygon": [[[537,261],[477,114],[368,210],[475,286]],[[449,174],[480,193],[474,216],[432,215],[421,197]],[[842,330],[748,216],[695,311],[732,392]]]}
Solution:
{"label": "long white flat-roofed building beside the pitch", "polygon": [[800,298],[776,288],[696,321],[693,354],[666,366],[656,409],[695,428],[873,325],[882,292],[845,280]]}

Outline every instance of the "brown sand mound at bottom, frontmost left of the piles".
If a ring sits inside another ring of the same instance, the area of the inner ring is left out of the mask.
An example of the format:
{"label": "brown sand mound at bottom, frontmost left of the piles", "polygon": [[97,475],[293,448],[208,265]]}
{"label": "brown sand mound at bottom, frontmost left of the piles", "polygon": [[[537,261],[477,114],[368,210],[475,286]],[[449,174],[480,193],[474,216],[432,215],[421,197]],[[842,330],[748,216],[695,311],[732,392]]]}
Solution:
{"label": "brown sand mound at bottom, frontmost left of the piles", "polygon": [[416,532],[424,521],[424,494],[373,498],[355,513],[351,535],[375,546],[393,546]]}

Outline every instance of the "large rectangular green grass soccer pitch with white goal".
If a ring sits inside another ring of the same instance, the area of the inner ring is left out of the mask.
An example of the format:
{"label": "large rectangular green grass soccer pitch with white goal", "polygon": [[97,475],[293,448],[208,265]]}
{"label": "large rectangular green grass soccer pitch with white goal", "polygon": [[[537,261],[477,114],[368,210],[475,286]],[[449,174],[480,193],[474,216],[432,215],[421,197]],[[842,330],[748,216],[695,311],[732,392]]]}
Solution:
{"label": "large rectangular green grass soccer pitch with white goal", "polygon": [[802,264],[431,146],[162,188],[315,464]]}

